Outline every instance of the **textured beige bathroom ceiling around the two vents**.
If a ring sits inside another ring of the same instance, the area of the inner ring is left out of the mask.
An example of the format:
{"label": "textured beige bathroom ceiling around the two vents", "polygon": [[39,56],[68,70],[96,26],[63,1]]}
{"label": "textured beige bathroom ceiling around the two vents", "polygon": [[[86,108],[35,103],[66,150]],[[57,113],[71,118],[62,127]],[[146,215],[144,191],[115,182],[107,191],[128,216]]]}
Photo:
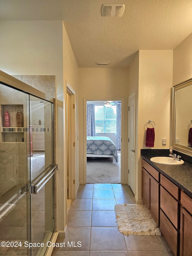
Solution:
{"label": "textured beige bathroom ceiling around the two vents", "polygon": [[[104,3],[125,4],[123,16],[102,17]],[[192,32],[192,1],[0,0],[0,19],[63,20],[80,68],[128,67],[138,50],[173,50]]]}

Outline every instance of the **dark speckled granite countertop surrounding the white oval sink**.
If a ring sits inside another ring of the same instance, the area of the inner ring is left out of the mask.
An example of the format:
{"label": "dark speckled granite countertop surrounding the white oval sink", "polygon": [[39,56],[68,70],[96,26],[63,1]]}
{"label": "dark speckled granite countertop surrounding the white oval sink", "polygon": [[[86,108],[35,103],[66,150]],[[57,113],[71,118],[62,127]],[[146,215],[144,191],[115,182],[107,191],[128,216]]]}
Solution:
{"label": "dark speckled granite countertop surrounding the white oval sink", "polygon": [[[164,152],[159,152],[161,154],[156,154],[156,152],[152,152],[153,154],[145,153],[146,152],[141,152],[141,157],[147,163],[152,165],[152,167],[170,179],[176,186],[192,198],[192,164],[186,161],[184,161],[184,164],[179,165],[157,164],[150,161],[150,158],[155,156],[165,156]],[[167,153],[166,156],[168,156]]]}

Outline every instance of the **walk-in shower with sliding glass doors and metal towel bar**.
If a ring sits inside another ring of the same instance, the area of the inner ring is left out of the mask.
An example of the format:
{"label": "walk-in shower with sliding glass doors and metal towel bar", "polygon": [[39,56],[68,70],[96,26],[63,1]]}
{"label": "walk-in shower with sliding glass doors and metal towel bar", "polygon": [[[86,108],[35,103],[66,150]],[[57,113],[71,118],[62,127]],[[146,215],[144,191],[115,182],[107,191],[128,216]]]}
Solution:
{"label": "walk-in shower with sliding glass doors and metal towel bar", "polygon": [[55,231],[54,101],[1,74],[0,255],[45,255]]}

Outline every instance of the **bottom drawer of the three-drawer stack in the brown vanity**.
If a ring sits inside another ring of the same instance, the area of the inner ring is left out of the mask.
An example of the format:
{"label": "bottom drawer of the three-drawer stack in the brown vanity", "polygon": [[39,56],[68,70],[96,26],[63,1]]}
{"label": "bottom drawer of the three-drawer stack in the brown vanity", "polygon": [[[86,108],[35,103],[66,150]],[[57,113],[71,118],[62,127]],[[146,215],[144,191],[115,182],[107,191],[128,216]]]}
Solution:
{"label": "bottom drawer of the three-drawer stack in the brown vanity", "polygon": [[177,255],[177,236],[178,232],[160,209],[160,230],[166,241],[170,245],[173,253]]}

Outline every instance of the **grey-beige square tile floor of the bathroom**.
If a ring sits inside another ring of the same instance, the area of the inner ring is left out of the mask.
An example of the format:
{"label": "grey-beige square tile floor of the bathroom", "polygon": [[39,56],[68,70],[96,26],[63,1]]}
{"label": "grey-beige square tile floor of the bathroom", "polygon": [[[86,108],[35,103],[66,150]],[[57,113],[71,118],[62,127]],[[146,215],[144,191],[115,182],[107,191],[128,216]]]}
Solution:
{"label": "grey-beige square tile floor of the bathroom", "polygon": [[125,236],[119,232],[114,206],[124,202],[135,203],[128,185],[80,185],[68,213],[65,238],[59,234],[56,241],[65,242],[65,246],[55,247],[52,256],[173,256],[163,236]]}

